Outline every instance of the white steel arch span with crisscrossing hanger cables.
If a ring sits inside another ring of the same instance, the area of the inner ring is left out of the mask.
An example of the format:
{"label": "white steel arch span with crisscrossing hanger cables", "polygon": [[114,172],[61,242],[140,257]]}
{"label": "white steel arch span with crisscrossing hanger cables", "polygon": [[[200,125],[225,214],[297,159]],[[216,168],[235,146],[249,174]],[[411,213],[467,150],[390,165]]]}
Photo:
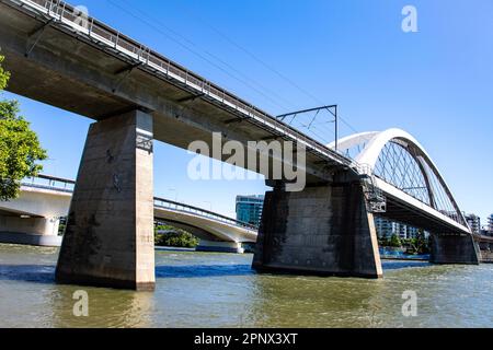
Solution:
{"label": "white steel arch span with crisscrossing hanger cables", "polygon": [[[334,148],[334,144],[329,144]],[[377,215],[435,234],[471,235],[450,188],[423,145],[401,129],[362,132],[339,141],[362,176],[385,197]]]}

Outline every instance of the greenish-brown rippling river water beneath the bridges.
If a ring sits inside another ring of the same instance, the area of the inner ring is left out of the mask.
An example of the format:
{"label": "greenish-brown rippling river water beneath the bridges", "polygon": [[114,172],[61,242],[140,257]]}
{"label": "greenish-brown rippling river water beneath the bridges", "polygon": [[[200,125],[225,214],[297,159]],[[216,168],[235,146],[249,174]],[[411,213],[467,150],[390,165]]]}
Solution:
{"label": "greenish-brown rippling river water beneath the bridges", "polygon": [[[0,327],[493,327],[493,265],[385,261],[385,278],[259,275],[252,255],[156,252],[153,293],[55,283],[57,248],[0,245]],[[77,290],[89,316],[76,317]],[[417,316],[404,317],[404,291]]]}

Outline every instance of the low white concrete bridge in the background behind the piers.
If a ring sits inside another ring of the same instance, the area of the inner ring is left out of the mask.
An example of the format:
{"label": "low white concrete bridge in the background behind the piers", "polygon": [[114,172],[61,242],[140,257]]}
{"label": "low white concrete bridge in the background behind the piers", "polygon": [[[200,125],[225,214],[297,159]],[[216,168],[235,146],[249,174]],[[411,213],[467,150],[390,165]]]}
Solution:
{"label": "low white concrete bridge in the background behind the piers", "polygon": [[[0,238],[59,245],[59,222],[68,215],[73,184],[43,175],[24,182],[18,199],[0,201]],[[196,235],[200,238],[198,250],[242,253],[242,243],[255,243],[257,236],[253,225],[161,198],[154,198],[154,219]]]}

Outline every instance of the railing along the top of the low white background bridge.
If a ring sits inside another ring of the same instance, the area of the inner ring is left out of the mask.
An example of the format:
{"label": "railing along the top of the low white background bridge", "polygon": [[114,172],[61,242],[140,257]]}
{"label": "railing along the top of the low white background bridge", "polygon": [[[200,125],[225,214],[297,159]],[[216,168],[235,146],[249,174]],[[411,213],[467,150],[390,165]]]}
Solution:
{"label": "railing along the top of the low white background bridge", "polygon": [[[42,188],[42,189],[50,189],[57,191],[64,191],[68,194],[73,192],[73,187],[76,182],[72,179],[67,179],[62,177],[49,176],[49,175],[37,175],[35,177],[28,177],[21,182],[22,186],[33,187],[33,188]],[[250,230],[259,230],[256,225],[252,225],[248,222],[239,221],[232,218],[228,218],[221,214],[218,214],[214,211],[202,209],[194,206],[188,206],[185,203],[181,203],[177,201],[169,200],[165,198],[154,197],[154,207],[170,209],[174,211],[181,211],[192,214],[197,214],[200,217],[215,219],[220,222],[225,222],[228,224],[250,229]]]}

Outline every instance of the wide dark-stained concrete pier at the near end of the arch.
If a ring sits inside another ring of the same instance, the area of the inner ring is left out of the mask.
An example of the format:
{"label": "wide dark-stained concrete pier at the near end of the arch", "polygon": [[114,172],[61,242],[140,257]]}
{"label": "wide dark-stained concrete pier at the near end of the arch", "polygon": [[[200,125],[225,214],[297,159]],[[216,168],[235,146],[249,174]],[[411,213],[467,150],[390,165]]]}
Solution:
{"label": "wide dark-stained concrete pier at the near end of the arch", "polygon": [[382,276],[372,214],[359,182],[266,194],[253,268],[321,276]]}

